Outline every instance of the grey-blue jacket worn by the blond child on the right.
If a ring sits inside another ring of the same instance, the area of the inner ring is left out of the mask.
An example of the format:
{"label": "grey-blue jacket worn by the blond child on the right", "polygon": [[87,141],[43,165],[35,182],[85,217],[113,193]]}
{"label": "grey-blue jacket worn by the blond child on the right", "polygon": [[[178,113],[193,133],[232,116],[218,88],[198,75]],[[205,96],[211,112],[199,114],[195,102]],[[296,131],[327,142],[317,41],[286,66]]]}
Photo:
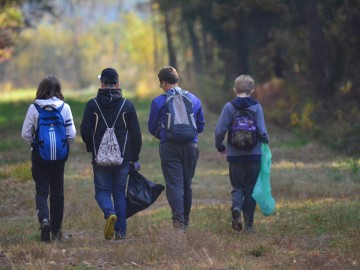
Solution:
{"label": "grey-blue jacket worn by the blond child on the right", "polygon": [[[246,108],[255,112],[258,143],[251,150],[238,150],[228,143],[226,143],[226,146],[224,144],[225,135],[236,111],[236,108],[231,103],[234,103],[239,108]],[[269,136],[260,103],[252,97],[237,97],[231,102],[226,103],[215,127],[215,147],[217,150],[222,152],[226,149],[226,158],[229,162],[261,161],[261,142],[268,143]]]}

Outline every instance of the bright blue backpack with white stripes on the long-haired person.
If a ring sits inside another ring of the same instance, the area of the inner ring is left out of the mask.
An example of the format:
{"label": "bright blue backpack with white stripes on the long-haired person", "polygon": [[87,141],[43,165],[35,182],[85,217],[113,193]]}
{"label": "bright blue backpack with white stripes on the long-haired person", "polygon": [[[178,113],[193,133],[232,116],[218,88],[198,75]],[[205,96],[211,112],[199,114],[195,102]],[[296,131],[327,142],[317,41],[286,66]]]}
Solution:
{"label": "bright blue backpack with white stripes on the long-haired person", "polygon": [[67,160],[69,144],[64,119],[60,113],[64,103],[58,109],[51,106],[40,107],[35,103],[34,105],[39,112],[33,144],[35,150],[43,160]]}

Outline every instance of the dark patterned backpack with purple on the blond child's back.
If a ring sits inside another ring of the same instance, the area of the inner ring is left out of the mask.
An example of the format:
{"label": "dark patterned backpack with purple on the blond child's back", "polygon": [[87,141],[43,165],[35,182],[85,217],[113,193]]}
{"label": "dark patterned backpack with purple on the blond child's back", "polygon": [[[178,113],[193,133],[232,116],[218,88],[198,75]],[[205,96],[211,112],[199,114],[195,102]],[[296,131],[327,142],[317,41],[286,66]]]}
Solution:
{"label": "dark patterned backpack with purple on the blond child's back", "polygon": [[250,150],[257,144],[257,128],[255,112],[240,109],[231,103],[236,111],[230,122],[228,143],[240,150]]}

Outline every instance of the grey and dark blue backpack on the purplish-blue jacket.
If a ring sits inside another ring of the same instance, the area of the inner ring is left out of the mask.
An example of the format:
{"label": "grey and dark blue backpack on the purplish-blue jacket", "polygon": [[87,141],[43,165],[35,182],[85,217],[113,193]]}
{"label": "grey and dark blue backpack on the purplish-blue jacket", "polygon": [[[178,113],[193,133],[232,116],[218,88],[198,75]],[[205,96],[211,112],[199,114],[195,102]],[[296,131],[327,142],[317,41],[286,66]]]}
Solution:
{"label": "grey and dark blue backpack on the purplish-blue jacket", "polygon": [[166,92],[166,119],[164,123],[166,140],[185,143],[197,135],[193,104],[187,91]]}

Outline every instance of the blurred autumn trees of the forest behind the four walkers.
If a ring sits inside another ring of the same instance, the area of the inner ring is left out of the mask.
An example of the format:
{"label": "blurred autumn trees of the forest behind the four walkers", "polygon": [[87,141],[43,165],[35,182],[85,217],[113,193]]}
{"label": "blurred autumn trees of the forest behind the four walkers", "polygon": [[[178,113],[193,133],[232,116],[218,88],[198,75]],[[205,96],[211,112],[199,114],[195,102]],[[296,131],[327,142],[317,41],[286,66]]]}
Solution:
{"label": "blurred autumn trees of the forest behind the four walkers", "polygon": [[218,113],[250,74],[268,122],[358,155],[359,28],[356,0],[2,0],[0,91],[34,91],[47,74],[81,91],[112,66],[149,98],[172,65]]}

